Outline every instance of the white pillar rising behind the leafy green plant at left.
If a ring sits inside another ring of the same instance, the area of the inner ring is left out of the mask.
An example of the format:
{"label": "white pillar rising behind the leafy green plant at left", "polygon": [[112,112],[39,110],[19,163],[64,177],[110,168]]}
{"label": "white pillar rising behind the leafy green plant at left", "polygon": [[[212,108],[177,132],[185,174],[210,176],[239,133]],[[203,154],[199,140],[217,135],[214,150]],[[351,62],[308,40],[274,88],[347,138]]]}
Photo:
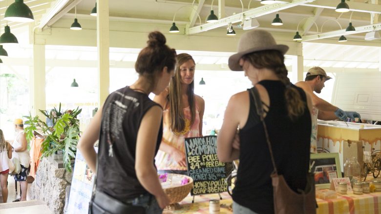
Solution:
{"label": "white pillar rising behind the leafy green plant at left", "polygon": [[30,69],[29,94],[32,116],[38,115],[43,120],[39,109],[46,109],[45,99],[45,45],[33,45],[33,69]]}

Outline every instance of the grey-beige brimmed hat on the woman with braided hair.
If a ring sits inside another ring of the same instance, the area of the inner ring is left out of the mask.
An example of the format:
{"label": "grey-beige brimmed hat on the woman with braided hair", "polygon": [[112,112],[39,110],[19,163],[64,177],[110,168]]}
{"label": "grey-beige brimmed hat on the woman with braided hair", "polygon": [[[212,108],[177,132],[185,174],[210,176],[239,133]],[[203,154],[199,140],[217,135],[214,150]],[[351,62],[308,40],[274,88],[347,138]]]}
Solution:
{"label": "grey-beige brimmed hat on the woman with braided hair", "polygon": [[245,54],[264,50],[277,50],[285,54],[288,51],[288,46],[276,44],[274,37],[265,30],[249,31],[239,39],[237,53],[229,58],[229,68],[232,71],[243,71],[239,65],[239,59]]}

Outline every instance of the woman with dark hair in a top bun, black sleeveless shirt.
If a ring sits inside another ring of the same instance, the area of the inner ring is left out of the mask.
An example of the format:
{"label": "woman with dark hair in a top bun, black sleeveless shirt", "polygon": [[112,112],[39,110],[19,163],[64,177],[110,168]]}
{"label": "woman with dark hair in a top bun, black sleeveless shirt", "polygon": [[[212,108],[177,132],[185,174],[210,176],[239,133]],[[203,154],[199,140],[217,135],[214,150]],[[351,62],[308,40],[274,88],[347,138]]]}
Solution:
{"label": "woman with dark hair in a top bun, black sleeveless shirt", "polygon": [[[166,45],[160,32],[151,32],[148,38],[148,46],[135,63],[139,78],[107,97],[81,136],[78,149],[96,173],[97,193],[143,206],[147,214],[159,214],[169,205],[154,165],[163,132],[163,109],[148,95],[158,95],[168,86],[176,51]],[[98,139],[97,170],[94,143]]]}

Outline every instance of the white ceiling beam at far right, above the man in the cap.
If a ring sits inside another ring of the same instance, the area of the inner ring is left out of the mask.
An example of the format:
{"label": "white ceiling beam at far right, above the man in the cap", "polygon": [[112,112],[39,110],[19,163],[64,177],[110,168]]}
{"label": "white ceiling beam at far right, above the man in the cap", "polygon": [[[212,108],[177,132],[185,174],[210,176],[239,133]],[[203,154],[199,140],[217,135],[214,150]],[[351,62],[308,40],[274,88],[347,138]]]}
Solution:
{"label": "white ceiling beam at far right, above the man in the cap", "polygon": [[351,35],[351,34],[359,34],[359,33],[371,32],[371,31],[378,31],[378,30],[381,30],[381,23],[365,25],[365,26],[360,26],[360,27],[355,26],[355,29],[356,29],[356,31],[345,31],[345,29],[342,29],[342,30],[320,33],[320,34],[311,35],[311,36],[305,36],[302,38],[303,39],[302,41],[311,41],[311,40],[316,40],[316,39],[340,37],[341,35],[345,36],[345,35]]}

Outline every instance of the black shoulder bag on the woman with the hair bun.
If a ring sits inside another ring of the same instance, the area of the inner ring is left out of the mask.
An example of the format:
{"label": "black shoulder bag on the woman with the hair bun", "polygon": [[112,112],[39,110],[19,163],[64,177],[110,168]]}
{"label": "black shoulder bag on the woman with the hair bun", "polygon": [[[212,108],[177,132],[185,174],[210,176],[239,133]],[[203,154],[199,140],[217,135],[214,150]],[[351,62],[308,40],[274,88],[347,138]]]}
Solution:
{"label": "black shoulder bag on the woman with the hair bun", "polygon": [[[98,173],[98,160],[96,173]],[[94,173],[93,193],[88,206],[89,214],[146,214],[146,209],[142,206],[126,204],[106,193],[96,191],[96,173]]]}

